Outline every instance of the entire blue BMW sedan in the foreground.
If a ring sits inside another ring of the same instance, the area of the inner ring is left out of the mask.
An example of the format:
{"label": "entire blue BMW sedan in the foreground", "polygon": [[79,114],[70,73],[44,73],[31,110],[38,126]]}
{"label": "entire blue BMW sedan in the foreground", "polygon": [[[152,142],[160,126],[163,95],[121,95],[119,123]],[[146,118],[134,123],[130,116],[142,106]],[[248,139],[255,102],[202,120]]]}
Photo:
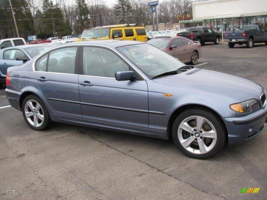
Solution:
{"label": "entire blue BMW sedan in the foreground", "polygon": [[192,158],[258,135],[264,88],[136,41],[59,45],[7,70],[6,95],[34,130],[51,121],[173,139]]}

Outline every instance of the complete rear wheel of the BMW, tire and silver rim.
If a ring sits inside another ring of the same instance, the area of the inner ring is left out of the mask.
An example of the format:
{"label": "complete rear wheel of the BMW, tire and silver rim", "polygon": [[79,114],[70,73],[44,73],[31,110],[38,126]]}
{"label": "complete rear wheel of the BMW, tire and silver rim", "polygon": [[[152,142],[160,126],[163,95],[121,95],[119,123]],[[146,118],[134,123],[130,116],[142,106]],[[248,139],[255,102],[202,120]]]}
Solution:
{"label": "complete rear wheel of the BMW, tire and silver rim", "polygon": [[29,95],[23,100],[22,113],[27,124],[34,130],[44,130],[50,125],[48,111],[35,95]]}

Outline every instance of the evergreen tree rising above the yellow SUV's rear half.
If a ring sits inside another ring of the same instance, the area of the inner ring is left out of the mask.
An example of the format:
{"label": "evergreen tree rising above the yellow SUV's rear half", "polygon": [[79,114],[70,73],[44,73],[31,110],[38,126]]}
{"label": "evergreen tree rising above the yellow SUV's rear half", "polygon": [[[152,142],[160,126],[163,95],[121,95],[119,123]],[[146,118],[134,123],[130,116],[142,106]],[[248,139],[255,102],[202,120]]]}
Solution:
{"label": "evergreen tree rising above the yellow SUV's rear half", "polygon": [[128,16],[131,11],[131,3],[129,0],[117,0],[114,5],[116,16],[118,16],[120,23],[128,23]]}

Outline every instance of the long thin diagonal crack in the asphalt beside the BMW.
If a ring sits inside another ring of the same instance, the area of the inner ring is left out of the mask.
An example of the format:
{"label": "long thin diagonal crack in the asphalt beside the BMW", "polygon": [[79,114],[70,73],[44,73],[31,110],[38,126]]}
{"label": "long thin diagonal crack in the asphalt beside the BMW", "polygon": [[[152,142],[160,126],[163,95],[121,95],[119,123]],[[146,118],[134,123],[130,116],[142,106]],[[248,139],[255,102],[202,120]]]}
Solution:
{"label": "long thin diagonal crack in the asphalt beside the BMW", "polygon": [[126,155],[126,156],[128,156],[128,157],[131,157],[131,158],[133,158],[133,159],[135,159],[135,160],[137,160],[137,161],[139,161],[139,162],[141,162],[141,163],[144,163],[145,165],[147,165],[147,166],[149,166],[149,167],[151,167],[151,168],[153,168],[153,169],[155,169],[155,170],[157,170],[157,171],[159,171],[159,172],[161,172],[161,173],[163,173],[163,174],[166,174],[166,175],[168,175],[168,176],[170,176],[170,177],[172,177],[172,178],[175,178],[175,179],[178,180],[178,181],[181,181],[181,182],[183,182],[183,183],[186,183],[187,185],[190,185],[191,187],[193,187],[193,188],[195,188],[195,189],[197,189],[197,190],[199,190],[199,191],[202,191],[203,193],[210,194],[210,195],[215,195],[215,196],[217,196],[217,197],[221,197],[221,198],[227,200],[227,198],[225,198],[225,197],[222,197],[222,196],[220,196],[220,195],[218,195],[218,194],[214,194],[214,193],[206,192],[205,190],[202,190],[202,189],[200,189],[200,188],[198,188],[198,187],[195,187],[194,185],[192,185],[192,184],[190,184],[190,183],[188,183],[188,182],[186,182],[186,181],[184,181],[184,180],[182,180],[182,179],[179,179],[179,178],[177,178],[177,177],[175,177],[175,176],[172,176],[171,174],[168,174],[167,172],[164,172],[164,171],[162,171],[162,170],[160,170],[160,169],[158,169],[158,168],[156,168],[156,167],[154,167],[154,166],[152,166],[152,165],[150,165],[150,164],[148,164],[148,163],[146,163],[146,162],[144,162],[144,161],[141,161],[141,160],[139,160],[139,159],[136,158],[136,157],[133,157],[133,156],[131,156],[131,155],[128,155],[128,154],[124,153],[123,151],[118,150],[118,149],[116,149],[115,147],[112,147],[112,146],[110,146],[109,144],[107,144],[107,143],[105,143],[105,142],[103,142],[103,141],[101,141],[101,140],[99,140],[99,139],[94,138],[91,134],[86,133],[86,132],[83,131],[83,130],[80,130],[80,128],[78,128],[77,130],[78,130],[80,133],[82,133],[82,134],[87,134],[87,135],[89,135],[89,137],[91,137],[93,140],[95,140],[95,141],[97,141],[97,142],[100,142],[100,143],[102,143],[103,145],[105,145],[105,146],[107,146],[107,147],[109,147],[109,148],[114,149],[114,150],[116,150],[116,151],[118,151],[118,152],[120,152],[120,153],[122,153],[122,154],[124,154],[124,155]]}

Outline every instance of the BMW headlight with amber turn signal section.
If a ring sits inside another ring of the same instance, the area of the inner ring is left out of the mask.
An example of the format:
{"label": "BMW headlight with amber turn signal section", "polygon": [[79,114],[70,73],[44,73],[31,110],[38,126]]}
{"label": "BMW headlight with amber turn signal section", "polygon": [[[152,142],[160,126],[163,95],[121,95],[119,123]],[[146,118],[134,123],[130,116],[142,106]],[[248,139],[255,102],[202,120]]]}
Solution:
{"label": "BMW headlight with amber turn signal section", "polygon": [[260,103],[256,99],[250,99],[241,103],[230,105],[230,108],[238,113],[250,113],[252,110],[260,108]]}

